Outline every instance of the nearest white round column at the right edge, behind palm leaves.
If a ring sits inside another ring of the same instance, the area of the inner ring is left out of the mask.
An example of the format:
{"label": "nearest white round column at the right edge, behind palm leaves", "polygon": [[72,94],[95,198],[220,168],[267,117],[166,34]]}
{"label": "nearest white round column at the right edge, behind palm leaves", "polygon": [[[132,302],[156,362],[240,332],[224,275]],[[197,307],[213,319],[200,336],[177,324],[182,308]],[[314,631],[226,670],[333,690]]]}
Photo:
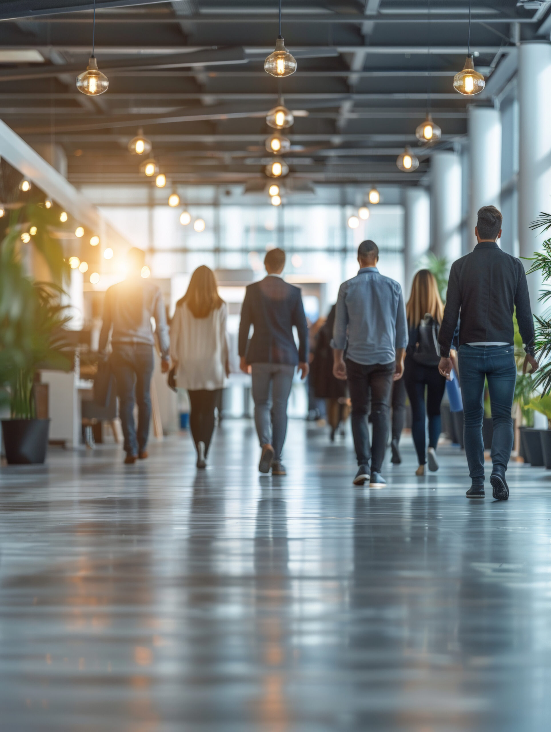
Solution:
{"label": "nearest white round column at the right edge, behind palm leaves", "polygon": [[[540,211],[551,212],[551,45],[529,42],[520,46],[517,75],[519,95],[519,248],[531,257],[543,236],[530,225]],[[541,288],[541,277],[528,277],[532,309]]]}

